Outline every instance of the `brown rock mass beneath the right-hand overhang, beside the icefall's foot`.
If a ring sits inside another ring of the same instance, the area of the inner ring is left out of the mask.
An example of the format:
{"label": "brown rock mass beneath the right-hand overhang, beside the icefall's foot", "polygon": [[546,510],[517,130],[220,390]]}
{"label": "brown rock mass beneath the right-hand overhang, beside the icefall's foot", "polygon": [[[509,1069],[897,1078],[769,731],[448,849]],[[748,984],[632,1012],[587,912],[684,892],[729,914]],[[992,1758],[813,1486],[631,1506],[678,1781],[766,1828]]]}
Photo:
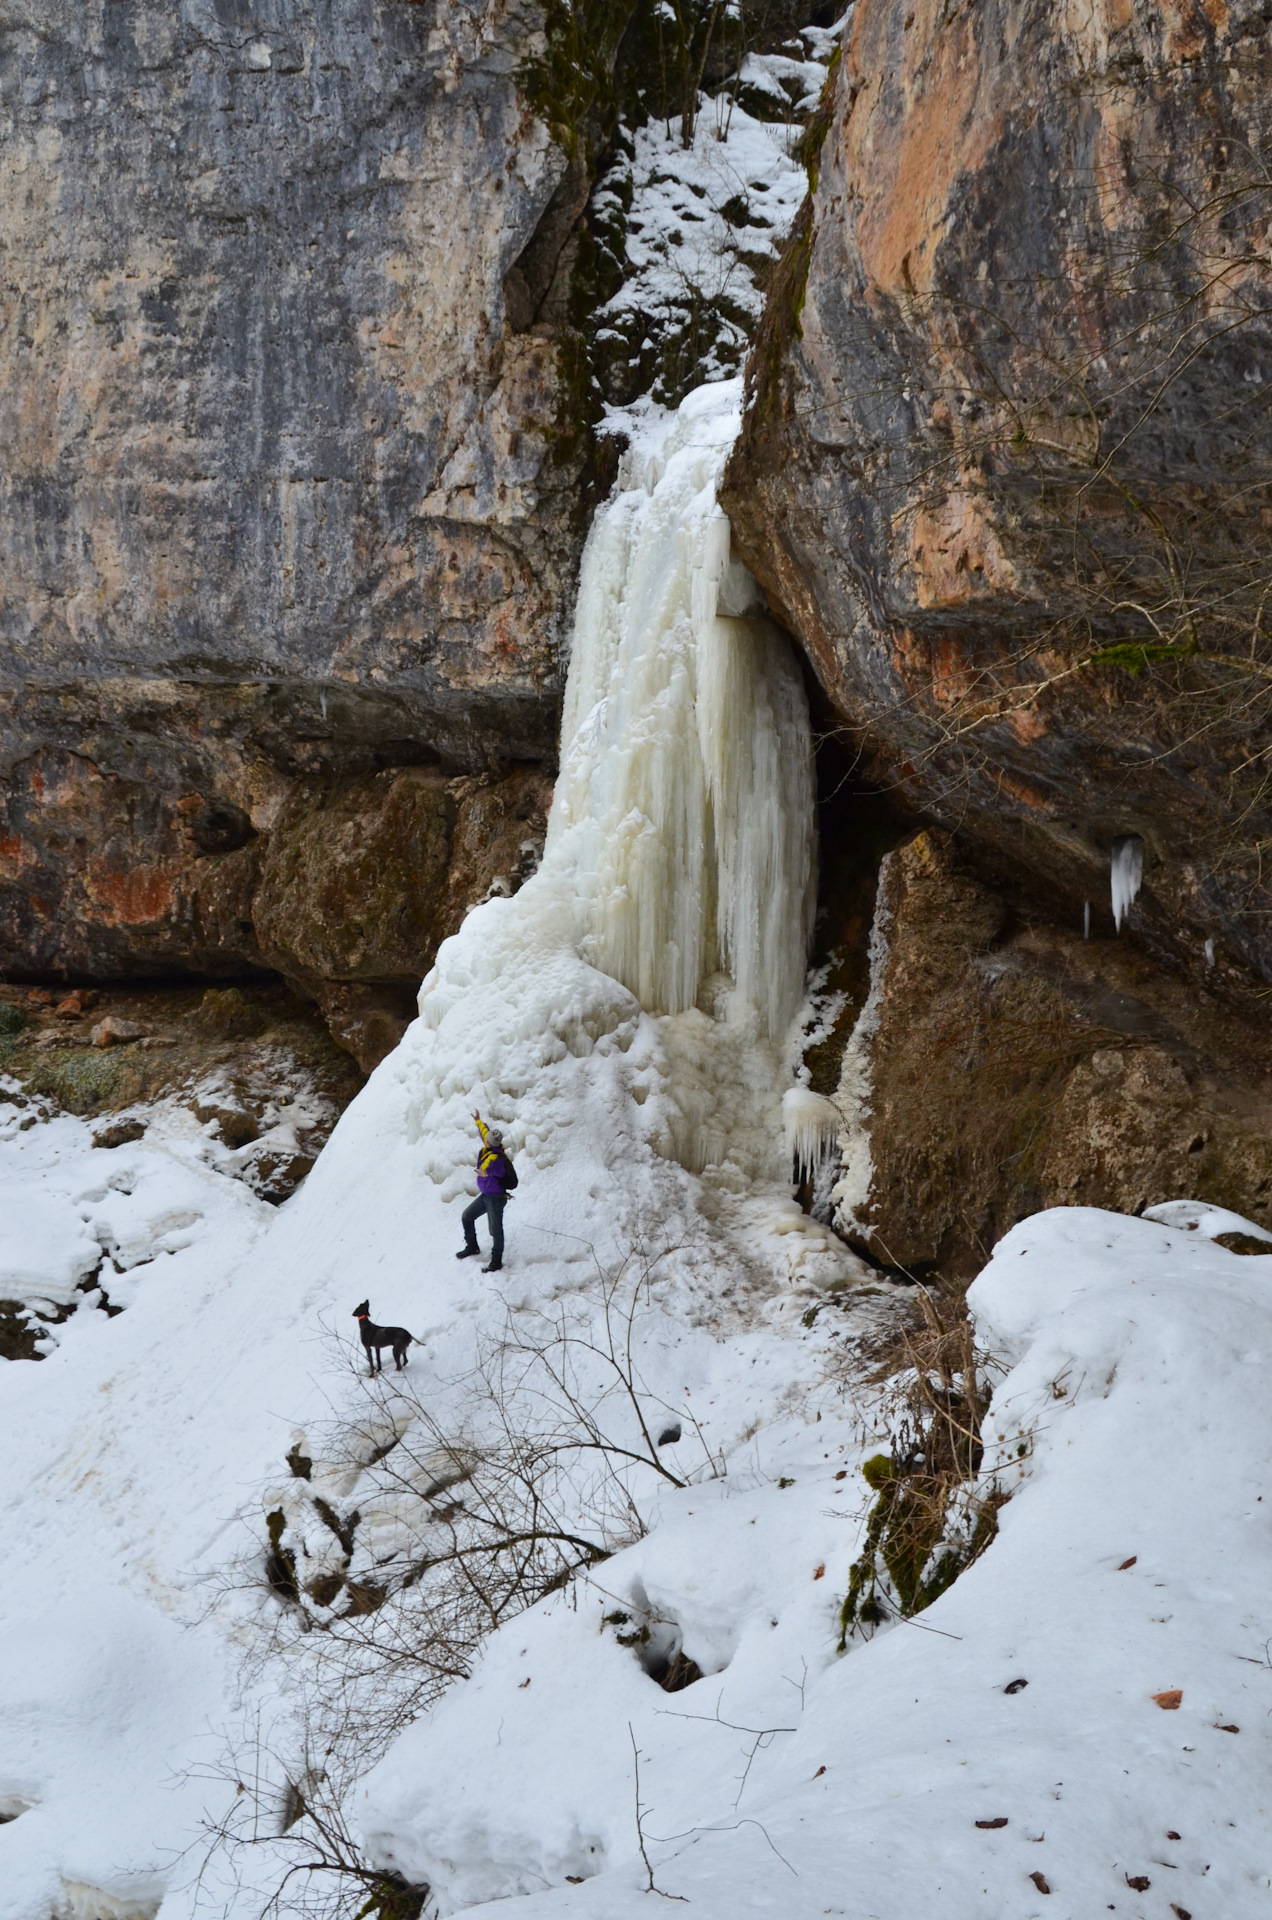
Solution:
{"label": "brown rock mass beneath the right-hand overhang, beside the icefall's foot", "polygon": [[[1255,1002],[1116,937],[1084,941],[949,835],[888,856],[842,1225],[876,1261],[970,1279],[1049,1206],[1201,1196],[1272,1225],[1272,1043]],[[865,1069],[865,1071],[863,1071]],[[865,1190],[863,1190],[865,1188]]]}

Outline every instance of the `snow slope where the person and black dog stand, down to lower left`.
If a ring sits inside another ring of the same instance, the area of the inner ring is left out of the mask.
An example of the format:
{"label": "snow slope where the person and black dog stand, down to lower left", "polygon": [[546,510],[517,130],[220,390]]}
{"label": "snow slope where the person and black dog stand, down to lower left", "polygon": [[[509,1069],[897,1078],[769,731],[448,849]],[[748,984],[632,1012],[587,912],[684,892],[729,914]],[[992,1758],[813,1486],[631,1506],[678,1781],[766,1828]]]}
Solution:
{"label": "snow slope where the person and black dog stand, down to lower left", "polygon": [[[509,904],[473,916],[455,970],[480,966]],[[717,1371],[747,1367],[751,1342],[759,1371],[749,1392],[732,1394],[732,1430],[715,1421],[713,1442],[734,1448],[780,1402],[799,1367],[782,1348],[807,1346],[799,1313],[813,1284],[851,1277],[851,1256],[780,1188],[757,1194],[740,1169],[722,1167],[711,1210],[736,1208],[749,1242],[730,1242],[722,1277],[722,1227],[703,1215],[711,1188],[659,1158],[644,1133],[659,1127],[669,1100],[661,1023],[580,962],[571,979],[546,964],[538,983],[555,1004],[555,1029],[517,1035],[507,998],[500,1023],[494,995],[482,1002],[475,993],[469,1014],[452,1016],[467,1066],[450,1054],[442,1089],[428,1073],[453,1035],[417,1023],[265,1233],[269,1210],[225,1179],[215,1231],[152,1261],[125,1313],[108,1319],[86,1302],[44,1363],[0,1375],[0,1619],[13,1649],[0,1674],[0,1811],[29,1809],[0,1826],[4,1920],[48,1920],[65,1905],[65,1884],[146,1912],[165,1884],[181,1882],[173,1853],[192,1839],[209,1795],[177,1776],[211,1764],[223,1730],[286,1680],[265,1672],[256,1695],[238,1699],[240,1653],[279,1611],[259,1586],[263,1515],[288,1480],[296,1428],[350,1398],[338,1336],[352,1334],[363,1294],[377,1315],[423,1336],[411,1365],[446,1382],[471,1365],[477,1323],[498,1325],[507,1302],[586,1288],[592,1246],[609,1258],[624,1233],[655,1219],[682,1244],[649,1392],[684,1404],[688,1388],[707,1404]],[[534,1021],[538,1012],[532,1002]],[[463,1039],[469,1018],[473,1044]],[[513,1089],[526,1087],[532,1098],[509,1125],[523,1185],[496,1292],[453,1260],[473,1144],[465,1119],[475,1104],[500,1116]],[[646,1092],[640,1104],[632,1087]],[[71,1156],[56,1177],[85,1212],[100,1212],[98,1187],[129,1156],[136,1148],[94,1152],[92,1171],[102,1171],[92,1190]],[[734,1198],[728,1183],[744,1194]],[[717,1298],[724,1292],[736,1298]],[[753,1313],[759,1327],[747,1332]],[[709,1405],[703,1415],[711,1425]],[[221,1597],[209,1615],[225,1569],[242,1555],[256,1586]]]}

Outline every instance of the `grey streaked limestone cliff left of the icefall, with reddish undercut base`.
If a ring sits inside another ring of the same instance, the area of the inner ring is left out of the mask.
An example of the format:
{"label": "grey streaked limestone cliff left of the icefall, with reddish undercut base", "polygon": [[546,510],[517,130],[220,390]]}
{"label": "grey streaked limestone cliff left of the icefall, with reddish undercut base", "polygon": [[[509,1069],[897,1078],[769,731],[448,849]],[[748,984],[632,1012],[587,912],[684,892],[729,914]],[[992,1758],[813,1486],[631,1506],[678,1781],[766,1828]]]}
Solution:
{"label": "grey streaked limestone cliff left of the icefall, with reddish undercut base", "polygon": [[540,27],[0,10],[0,968],[261,964],[298,781],[551,755],[584,447]]}

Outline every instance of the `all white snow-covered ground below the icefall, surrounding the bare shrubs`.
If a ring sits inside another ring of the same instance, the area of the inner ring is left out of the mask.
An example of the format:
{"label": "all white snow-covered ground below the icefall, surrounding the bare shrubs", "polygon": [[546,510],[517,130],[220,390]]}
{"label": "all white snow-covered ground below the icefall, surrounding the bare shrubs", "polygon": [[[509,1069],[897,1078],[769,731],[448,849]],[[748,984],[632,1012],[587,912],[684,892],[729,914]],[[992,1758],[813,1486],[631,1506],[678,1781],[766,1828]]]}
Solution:
{"label": "all white snow-covered ground below the icefall, surrounding the bare shrubs", "polygon": [[[204,1772],[292,1684],[281,1655],[244,1692],[273,1596],[208,1607],[227,1567],[259,1567],[279,1490],[302,1488],[284,1453],[317,1453],[306,1425],[354,1396],[325,1327],[369,1290],[425,1338],[415,1384],[448,1392],[501,1302],[586,1300],[578,1242],[617,1250],[640,1208],[682,1240],[642,1346],[649,1404],[694,1411],[726,1473],[640,1488],[649,1534],[492,1636],[357,1789],[373,1859],[428,1878],[442,1912],[511,1893],[526,1914],[644,1912],[642,1839],[657,1887],[719,1920],[1266,1910],[1262,1261],[1088,1210],[1015,1229],[972,1290],[1011,1369],[984,1467],[1013,1490],[999,1538],[918,1620],[836,1657],[880,1442],[836,1348],[882,1304],[805,1329],[813,1284],[782,1284],[736,1219],[721,1238],[707,1188],[642,1140],[657,1023],[624,1012],[609,1046],[536,1073],[500,1292],[452,1258],[442,1129],[413,1137],[421,1025],[265,1236],[234,1187],[238,1213],[152,1260],[125,1313],[81,1309],[48,1361],[4,1369],[0,1912],[150,1914],[165,1889],[165,1920],[194,1908],[179,1855],[225,1795]],[[457,1162],[467,1104],[501,1092],[477,1058],[440,1100]],[[786,1244],[776,1194],[744,1206]],[[674,1634],[703,1678],[665,1693],[619,1613]],[[204,1910],[256,1912],[269,1864],[238,1903],[213,1866]]]}

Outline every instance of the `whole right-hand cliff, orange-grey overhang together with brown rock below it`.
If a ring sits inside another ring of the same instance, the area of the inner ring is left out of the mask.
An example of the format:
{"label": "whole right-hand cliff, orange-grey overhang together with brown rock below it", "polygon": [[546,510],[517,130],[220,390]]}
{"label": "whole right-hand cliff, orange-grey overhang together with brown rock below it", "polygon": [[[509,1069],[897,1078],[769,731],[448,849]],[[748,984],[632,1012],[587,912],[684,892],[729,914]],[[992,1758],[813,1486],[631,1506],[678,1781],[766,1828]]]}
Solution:
{"label": "whole right-hand cliff, orange-grey overhang together with brown rock below it", "polygon": [[805,140],[724,505],[845,778],[934,829],[840,1089],[840,1217],[909,1271],[1268,1204],[1270,138],[1264,0],[857,0]]}

